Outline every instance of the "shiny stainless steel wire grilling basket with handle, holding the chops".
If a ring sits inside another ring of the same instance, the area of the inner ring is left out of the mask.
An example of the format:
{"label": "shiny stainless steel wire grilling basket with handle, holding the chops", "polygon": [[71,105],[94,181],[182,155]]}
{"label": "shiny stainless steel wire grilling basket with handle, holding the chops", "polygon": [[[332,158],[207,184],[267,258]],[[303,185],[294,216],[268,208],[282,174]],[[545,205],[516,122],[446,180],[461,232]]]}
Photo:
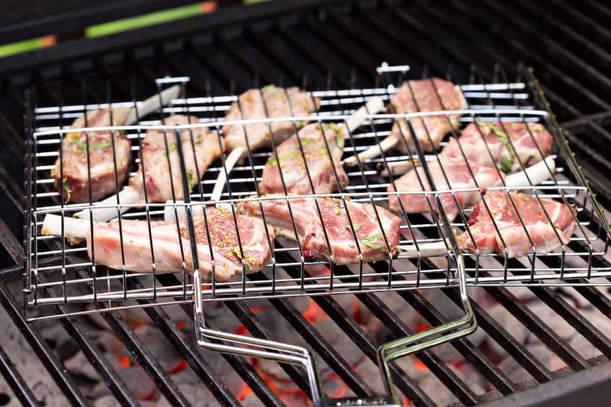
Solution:
{"label": "shiny stainless steel wire grilling basket with handle, holding the chops", "polygon": [[[569,243],[560,242],[557,250],[547,254],[537,253],[536,248],[533,247],[526,256],[519,259],[509,258],[507,251],[505,256],[500,256],[499,254],[481,254],[478,250],[471,252],[461,250],[456,240],[456,231],[469,231],[467,219],[470,210],[461,210],[459,216],[450,222],[440,196],[451,194],[456,200],[456,194],[474,192],[474,190],[435,189],[427,162],[437,160],[439,156],[437,153],[427,155],[421,148],[415,148],[414,151],[409,152],[410,154],[381,152],[376,158],[357,159],[356,166],[346,171],[349,184],[341,192],[327,195],[302,195],[315,199],[322,196],[333,196],[342,200],[384,206],[390,195],[406,194],[387,192],[387,187],[395,181],[393,165],[402,161],[410,162],[412,166],[421,165],[428,184],[431,185],[431,191],[426,191],[426,188],[423,187],[422,192],[409,193],[427,196],[430,203],[436,203],[439,209],[437,213],[431,206],[431,211],[427,214],[406,214],[404,211],[398,214],[403,222],[400,245],[410,247],[412,250],[400,252],[396,258],[389,256],[386,261],[374,264],[367,264],[361,258],[359,264],[349,267],[339,266],[334,262],[306,261],[299,243],[287,239],[277,239],[274,243],[266,229],[273,251],[271,260],[263,272],[247,274],[246,264],[244,264],[243,272],[230,281],[216,281],[214,272],[211,273],[212,277],[208,281],[203,279],[200,273],[197,256],[192,259],[192,267],[187,267],[187,260],[183,257],[182,270],[176,270],[180,284],[170,286],[158,283],[155,264],[149,273],[130,272],[126,269],[125,264],[122,270],[111,270],[96,265],[95,253],[92,253],[94,259],[92,261],[87,256],[87,248],[84,245],[70,246],[63,237],[43,236],[40,231],[43,218],[47,214],[60,215],[63,230],[65,219],[70,218],[75,212],[92,211],[94,208],[104,207],[91,202],[87,204],[66,203],[64,194],[57,192],[53,186],[53,179],[49,176],[49,171],[57,155],[60,154],[58,152],[60,143],[65,134],[75,131],[75,129],[68,128],[66,124],[82,115],[86,110],[126,106],[134,107],[137,112],[141,103],[134,100],[125,103],[108,101],[105,104],[37,107],[34,100],[31,99],[27,111],[24,302],[30,309],[66,304],[70,312],[60,316],[142,306],[128,304],[127,301],[130,300],[163,298],[166,301],[164,304],[193,302],[196,311],[196,336],[202,347],[236,355],[271,358],[304,366],[312,387],[313,401],[315,404],[324,404],[326,402],[321,400],[315,360],[309,351],[290,344],[211,330],[207,328],[203,318],[203,303],[235,299],[456,287],[463,300],[464,317],[428,331],[395,340],[379,348],[379,366],[390,398],[381,398],[377,402],[360,400],[360,405],[373,405],[382,401],[398,405],[398,399],[394,395],[390,382],[389,361],[474,331],[477,328],[477,322],[467,297],[467,286],[610,285],[607,278],[611,277],[611,270],[598,260],[606,256],[608,252],[611,226],[602,207],[596,201],[596,196],[591,192],[587,179],[577,164],[532,71],[522,68],[521,72],[522,77],[514,82],[505,79],[494,84],[459,85],[468,104],[465,110],[403,114],[395,113],[392,110],[387,113],[364,112],[362,118],[366,119],[365,123],[349,132],[346,138],[344,158],[355,156],[371,146],[378,146],[390,134],[390,126],[395,120],[431,115],[445,116],[445,118],[450,115],[461,115],[459,119],[461,122],[477,119],[542,123],[554,137],[551,157],[555,160],[556,171],[550,174],[547,181],[538,185],[529,184],[520,189],[538,198],[552,198],[575,207],[575,212],[571,213],[576,220],[577,231]],[[297,123],[304,120],[318,123],[342,123],[349,120],[351,115],[371,98],[378,97],[387,103],[397,90],[395,85],[409,79],[409,67],[389,67],[384,64],[378,68],[378,76],[379,84],[383,85],[375,88],[310,91],[309,94],[313,98],[321,98],[320,110],[311,116],[232,122],[224,121],[223,117],[229,109],[229,104],[236,101],[238,96],[205,95],[186,98],[188,77],[163,78],[157,81],[159,92],[171,85],[178,84],[181,95],[173,98],[168,106],[160,109],[157,117],[149,115],[142,118],[148,120],[139,120],[137,124],[131,126],[76,130],[87,132],[106,129],[112,131],[113,134],[123,132],[126,137],[133,140],[132,149],[134,154],[139,156],[139,143],[145,138],[147,129],[177,132],[184,129],[209,127],[217,132],[220,140],[221,127],[224,124],[245,126],[251,123],[270,124],[274,121]],[[159,98],[161,98],[161,93]],[[200,119],[200,123],[183,126],[164,125],[163,117],[174,113],[195,115]],[[411,126],[409,128],[411,129]],[[458,135],[459,129],[453,128],[450,138],[458,140]],[[413,131],[411,134],[403,134],[403,137],[408,140],[413,137],[415,140]],[[533,141],[536,145],[534,138]],[[415,145],[418,146],[418,143]],[[443,145],[445,145],[444,142],[442,142]],[[536,147],[539,148],[538,145]],[[174,212],[175,215],[178,215],[179,212],[183,213],[188,218],[186,227],[189,229],[191,249],[197,251],[191,218],[195,211],[200,211],[205,206],[221,205],[231,208],[234,211],[235,219],[236,204],[246,201],[260,204],[263,200],[270,199],[289,201],[286,196],[265,197],[258,193],[257,184],[261,180],[263,166],[273,154],[276,154],[275,145],[271,151],[269,149],[255,151],[248,149],[246,160],[237,164],[230,171],[227,171],[227,163],[224,157],[221,157],[208,168],[203,179],[196,184],[192,193],[186,196],[184,202],[122,204],[119,201],[105,205],[105,207],[116,210],[117,215],[127,211],[122,214],[123,219],[145,220],[149,228],[150,222],[163,219],[166,211]],[[142,162],[141,156],[139,157],[140,159],[136,160],[137,163]],[[520,164],[524,169],[524,163],[520,162]],[[443,170],[443,165],[441,167]],[[379,170],[387,175],[382,176]],[[548,170],[551,169],[548,168]],[[186,180],[185,163],[182,157],[181,171],[183,180]],[[213,186],[221,174],[225,176],[222,195],[219,199],[210,200]],[[423,181],[420,182],[423,186]],[[120,186],[117,185],[117,190],[120,189]],[[189,190],[187,185],[185,188]],[[492,189],[508,193],[517,188],[502,186]],[[480,191],[476,189],[475,192]],[[590,214],[591,217],[580,216],[584,212]],[[518,217],[521,220],[519,212]],[[590,218],[595,221],[582,220]],[[295,223],[292,215],[291,221]],[[321,223],[324,225],[324,222]],[[354,225],[351,221],[350,223],[350,228],[354,230]],[[425,248],[431,245],[442,245],[444,250],[430,254]],[[153,250],[152,243],[151,250]],[[211,253],[211,256],[214,255]],[[323,275],[312,275],[309,273],[309,270],[312,270],[311,267],[326,267],[328,272]],[[187,272],[188,269],[194,270],[192,275]],[[41,295],[42,288],[51,289],[51,292],[56,295]],[[98,306],[93,311],[78,307],[79,303],[91,302],[103,304],[103,306]],[[155,305],[155,303],[150,305]],[[29,321],[51,318],[37,313],[28,314],[27,308],[26,317]],[[342,403],[349,405],[350,402]]]}

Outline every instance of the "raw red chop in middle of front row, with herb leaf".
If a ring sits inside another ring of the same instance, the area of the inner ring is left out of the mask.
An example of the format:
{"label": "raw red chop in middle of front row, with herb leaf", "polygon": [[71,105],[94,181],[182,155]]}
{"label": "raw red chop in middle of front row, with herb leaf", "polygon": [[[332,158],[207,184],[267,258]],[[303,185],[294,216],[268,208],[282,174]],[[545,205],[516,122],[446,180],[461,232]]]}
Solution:
{"label": "raw red chop in middle of front row, with herb leaf", "polygon": [[[287,200],[278,196],[278,199],[261,201],[266,221],[276,228],[278,236],[299,240],[307,261],[332,261],[333,255],[335,264],[358,264],[359,248],[364,262],[387,259],[397,253],[401,225],[397,216],[382,207],[348,201],[350,220],[356,232],[355,240],[343,200],[322,197],[317,200],[331,247],[327,245],[314,198],[289,198],[297,237],[293,232]],[[260,216],[261,206],[256,201],[246,201],[238,204],[238,211]],[[381,222],[378,222],[376,211]]]}

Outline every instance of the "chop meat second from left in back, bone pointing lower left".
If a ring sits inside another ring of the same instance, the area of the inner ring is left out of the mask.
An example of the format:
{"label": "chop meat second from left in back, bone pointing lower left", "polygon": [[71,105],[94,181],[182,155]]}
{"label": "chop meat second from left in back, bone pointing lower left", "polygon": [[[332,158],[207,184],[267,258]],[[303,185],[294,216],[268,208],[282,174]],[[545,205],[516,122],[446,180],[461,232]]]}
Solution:
{"label": "chop meat second from left in back, bone pointing lower left", "polygon": [[[164,123],[166,126],[196,124],[199,123],[199,119],[193,116],[173,115],[167,117]],[[138,203],[144,203],[144,182],[147,199],[150,203],[165,202],[174,198],[183,200],[185,198],[183,176],[180,170],[180,156],[176,144],[177,132],[168,129],[165,133],[164,137],[163,130],[150,129],[140,144],[142,163],[139,165],[136,175],[130,178],[130,186],[140,192],[141,199]],[[191,144],[191,135],[193,145]],[[180,132],[180,140],[185,158],[187,182],[189,190],[192,190],[211,162],[221,155],[222,149],[219,146],[218,136],[207,127],[195,128],[191,131],[184,129]],[[144,182],[142,181],[143,167],[145,170]],[[199,170],[199,173],[197,170]],[[171,181],[170,173],[172,175]],[[172,185],[174,186],[174,195],[172,195]]]}

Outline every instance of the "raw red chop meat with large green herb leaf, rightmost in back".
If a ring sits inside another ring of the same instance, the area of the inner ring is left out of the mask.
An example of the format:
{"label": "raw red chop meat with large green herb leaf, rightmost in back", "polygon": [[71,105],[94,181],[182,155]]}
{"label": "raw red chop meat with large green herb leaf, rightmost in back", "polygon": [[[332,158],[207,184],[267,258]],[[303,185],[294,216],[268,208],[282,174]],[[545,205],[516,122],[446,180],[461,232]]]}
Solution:
{"label": "raw red chop meat with large green herb leaf, rightmost in back", "polygon": [[475,121],[464,129],[458,140],[451,138],[442,154],[462,157],[459,143],[470,161],[487,167],[498,166],[508,173],[519,171],[520,162],[528,167],[549,156],[554,138],[539,123]]}

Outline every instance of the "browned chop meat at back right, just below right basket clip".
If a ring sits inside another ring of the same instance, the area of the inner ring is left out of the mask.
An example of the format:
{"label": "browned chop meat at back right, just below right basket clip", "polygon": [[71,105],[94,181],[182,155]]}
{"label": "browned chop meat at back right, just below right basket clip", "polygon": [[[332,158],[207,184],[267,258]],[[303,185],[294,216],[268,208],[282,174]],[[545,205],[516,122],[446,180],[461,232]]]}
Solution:
{"label": "browned chop meat at back right, just below right basket clip", "polygon": [[[443,104],[439,102],[439,99]],[[390,101],[394,107],[394,113],[434,112],[467,108],[463,92],[458,90],[452,82],[444,81],[444,79],[438,77],[409,81],[409,85],[408,82],[404,82]],[[439,148],[439,143],[446,134],[452,131],[452,128],[458,128],[459,117],[460,115],[449,115],[449,121],[445,115],[414,117],[409,119],[409,122],[412,124],[415,136],[422,149],[430,152]],[[390,135],[399,138],[397,147],[403,154],[409,153],[405,148],[406,144],[414,154],[414,143],[408,124],[404,119],[397,120],[393,124]],[[401,141],[401,135],[403,135],[406,143]]]}

